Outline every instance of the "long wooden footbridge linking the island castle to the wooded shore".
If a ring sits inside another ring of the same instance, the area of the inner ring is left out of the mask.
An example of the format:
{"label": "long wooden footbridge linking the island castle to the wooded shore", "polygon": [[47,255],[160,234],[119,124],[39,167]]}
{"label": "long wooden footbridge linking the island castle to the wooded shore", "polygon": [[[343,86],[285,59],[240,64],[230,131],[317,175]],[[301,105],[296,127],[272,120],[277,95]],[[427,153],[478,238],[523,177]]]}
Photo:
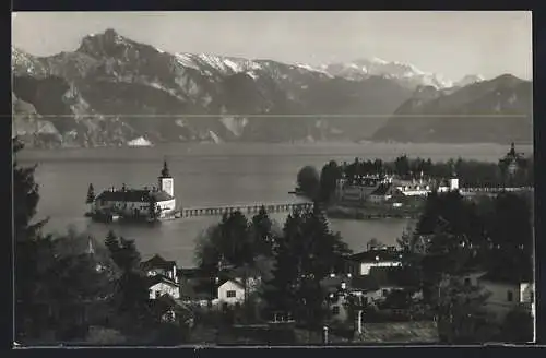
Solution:
{"label": "long wooden footbridge linking the island castle to the wooded shore", "polygon": [[264,207],[268,213],[292,212],[293,210],[311,210],[312,202],[298,203],[268,203],[268,204],[241,204],[241,205],[225,205],[225,206],[209,206],[209,207],[185,207],[179,211],[180,217],[191,216],[213,216],[235,213],[237,211],[242,214],[257,214],[261,207]]}

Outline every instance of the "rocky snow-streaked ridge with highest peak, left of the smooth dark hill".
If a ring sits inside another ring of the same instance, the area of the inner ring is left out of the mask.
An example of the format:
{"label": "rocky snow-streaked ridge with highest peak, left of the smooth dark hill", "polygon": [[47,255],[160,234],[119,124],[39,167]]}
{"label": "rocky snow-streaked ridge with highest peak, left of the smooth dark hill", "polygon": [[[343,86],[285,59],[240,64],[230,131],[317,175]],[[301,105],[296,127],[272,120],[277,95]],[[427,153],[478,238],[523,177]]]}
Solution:
{"label": "rocky snow-streaked ridge with highest peak, left of the smooth dark hill", "polygon": [[423,88],[395,73],[355,80],[304,64],[168,53],[114,29],[50,57],[12,48],[12,71],[13,134],[37,147],[357,141]]}

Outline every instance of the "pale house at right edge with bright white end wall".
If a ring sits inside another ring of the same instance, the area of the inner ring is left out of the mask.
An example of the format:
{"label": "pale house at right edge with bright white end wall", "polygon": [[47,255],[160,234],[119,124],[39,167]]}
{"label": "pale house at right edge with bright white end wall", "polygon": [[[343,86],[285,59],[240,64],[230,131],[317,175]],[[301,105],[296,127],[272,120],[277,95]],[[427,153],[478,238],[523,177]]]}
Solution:
{"label": "pale house at right edge with bright white end wall", "polygon": [[535,284],[532,277],[517,275],[510,270],[489,272],[478,278],[479,285],[489,293],[485,308],[497,321],[502,321],[515,307],[535,313]]}

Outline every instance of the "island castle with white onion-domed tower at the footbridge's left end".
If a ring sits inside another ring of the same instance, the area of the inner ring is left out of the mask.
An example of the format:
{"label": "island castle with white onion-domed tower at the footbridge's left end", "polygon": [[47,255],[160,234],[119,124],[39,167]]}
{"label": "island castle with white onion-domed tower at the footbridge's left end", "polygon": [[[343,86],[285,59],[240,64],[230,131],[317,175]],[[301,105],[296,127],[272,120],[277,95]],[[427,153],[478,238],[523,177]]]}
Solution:
{"label": "island castle with white onion-domed tower at the footbridge's left end", "polygon": [[92,212],[97,216],[123,218],[161,219],[173,216],[176,211],[175,180],[164,162],[158,187],[149,189],[121,189],[114,187],[95,198]]}

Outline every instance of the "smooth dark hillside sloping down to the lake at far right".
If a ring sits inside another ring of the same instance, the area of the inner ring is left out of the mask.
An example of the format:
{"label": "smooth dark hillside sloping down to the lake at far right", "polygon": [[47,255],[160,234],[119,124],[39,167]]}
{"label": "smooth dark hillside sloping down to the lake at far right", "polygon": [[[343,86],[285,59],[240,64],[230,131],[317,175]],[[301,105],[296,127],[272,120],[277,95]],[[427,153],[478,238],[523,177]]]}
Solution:
{"label": "smooth dark hillside sloping down to the lake at far right", "polygon": [[505,74],[461,88],[418,88],[375,141],[532,143],[532,83]]}

